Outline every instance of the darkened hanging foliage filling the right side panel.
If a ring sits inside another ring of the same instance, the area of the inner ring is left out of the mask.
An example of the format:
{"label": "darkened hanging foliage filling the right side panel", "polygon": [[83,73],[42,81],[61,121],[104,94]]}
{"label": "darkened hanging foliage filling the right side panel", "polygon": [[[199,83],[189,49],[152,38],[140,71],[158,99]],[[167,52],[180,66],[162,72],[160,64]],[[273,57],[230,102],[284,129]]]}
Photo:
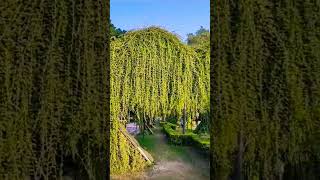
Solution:
{"label": "darkened hanging foliage filling the right side panel", "polygon": [[212,177],[320,179],[320,1],[211,1]]}

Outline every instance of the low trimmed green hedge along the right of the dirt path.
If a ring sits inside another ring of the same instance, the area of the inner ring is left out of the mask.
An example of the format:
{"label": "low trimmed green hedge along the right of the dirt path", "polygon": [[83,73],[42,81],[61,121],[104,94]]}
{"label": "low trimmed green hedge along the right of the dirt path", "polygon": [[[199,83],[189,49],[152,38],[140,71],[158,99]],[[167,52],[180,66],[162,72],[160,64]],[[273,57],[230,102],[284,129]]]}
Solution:
{"label": "low trimmed green hedge along the right of the dirt path", "polygon": [[203,138],[190,130],[183,134],[181,130],[177,130],[177,125],[171,123],[164,123],[162,129],[172,144],[194,146],[201,150],[209,151],[210,138],[208,137]]}

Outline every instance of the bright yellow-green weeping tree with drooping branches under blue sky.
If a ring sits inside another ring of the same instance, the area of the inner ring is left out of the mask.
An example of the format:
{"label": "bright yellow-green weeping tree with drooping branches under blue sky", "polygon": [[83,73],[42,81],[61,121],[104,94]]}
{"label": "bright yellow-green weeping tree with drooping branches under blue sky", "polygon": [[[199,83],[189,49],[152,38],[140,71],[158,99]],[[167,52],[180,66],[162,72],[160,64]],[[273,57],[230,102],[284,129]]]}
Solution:
{"label": "bright yellow-green weeping tree with drooping branches under blue sky", "polygon": [[111,172],[134,168],[134,150],[119,135],[119,120],[130,112],[137,122],[152,124],[156,117],[179,119],[183,110],[189,119],[209,111],[208,63],[157,27],[111,42]]}

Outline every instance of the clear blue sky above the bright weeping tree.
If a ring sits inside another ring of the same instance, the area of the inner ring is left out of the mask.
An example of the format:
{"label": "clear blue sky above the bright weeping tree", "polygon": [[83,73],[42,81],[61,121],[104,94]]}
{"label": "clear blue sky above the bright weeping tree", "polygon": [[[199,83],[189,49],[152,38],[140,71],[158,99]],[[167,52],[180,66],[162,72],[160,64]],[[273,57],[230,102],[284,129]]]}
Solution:
{"label": "clear blue sky above the bright weeping tree", "polygon": [[155,25],[185,40],[200,26],[209,29],[210,0],[110,0],[110,16],[124,30]]}

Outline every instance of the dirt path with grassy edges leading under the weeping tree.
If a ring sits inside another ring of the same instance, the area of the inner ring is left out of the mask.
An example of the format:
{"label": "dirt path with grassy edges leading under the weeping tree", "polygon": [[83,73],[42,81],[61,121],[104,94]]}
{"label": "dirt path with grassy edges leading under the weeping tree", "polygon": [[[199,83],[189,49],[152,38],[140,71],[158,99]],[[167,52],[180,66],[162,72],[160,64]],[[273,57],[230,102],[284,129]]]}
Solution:
{"label": "dirt path with grassy edges leading under the weeping tree", "polygon": [[138,140],[141,146],[155,158],[155,165],[140,174],[125,175],[112,179],[209,179],[209,157],[191,147],[169,145],[159,128],[155,130],[154,135],[138,137]]}

